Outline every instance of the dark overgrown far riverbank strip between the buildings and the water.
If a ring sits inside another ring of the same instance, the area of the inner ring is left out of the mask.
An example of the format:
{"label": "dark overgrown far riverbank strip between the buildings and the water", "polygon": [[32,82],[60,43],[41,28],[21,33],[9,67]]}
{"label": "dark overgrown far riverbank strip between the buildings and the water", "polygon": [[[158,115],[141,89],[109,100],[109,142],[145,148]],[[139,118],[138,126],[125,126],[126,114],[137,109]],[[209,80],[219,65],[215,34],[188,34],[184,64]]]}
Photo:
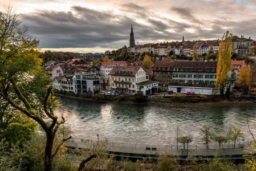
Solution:
{"label": "dark overgrown far riverbank strip between the buildings and the water", "polygon": [[66,91],[54,91],[55,95],[69,97],[72,99],[87,100],[87,101],[101,101],[106,103],[123,103],[123,104],[228,104],[228,103],[255,103],[256,97],[229,97],[222,98],[219,95],[194,95],[185,96],[180,93],[176,93],[173,96],[149,98],[140,94],[134,96],[108,96],[103,93],[99,93],[94,97],[87,95],[79,95],[74,92]]}

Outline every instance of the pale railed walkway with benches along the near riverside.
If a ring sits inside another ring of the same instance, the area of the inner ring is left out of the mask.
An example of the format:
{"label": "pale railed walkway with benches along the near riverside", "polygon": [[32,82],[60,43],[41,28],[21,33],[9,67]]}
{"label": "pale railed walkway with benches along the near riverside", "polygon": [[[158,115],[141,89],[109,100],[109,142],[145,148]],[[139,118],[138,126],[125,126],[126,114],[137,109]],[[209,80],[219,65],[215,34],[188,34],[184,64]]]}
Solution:
{"label": "pale railed walkway with benches along the near riverside", "polygon": [[[101,142],[101,141],[99,141]],[[71,141],[66,141],[66,146],[73,148],[94,148],[97,144],[97,141],[85,140],[85,139],[72,139]],[[222,145],[219,151],[220,156],[235,156],[242,159],[243,153],[246,153],[245,150],[253,149],[253,146],[250,146],[251,142],[246,141],[244,144],[236,144],[236,148],[232,148],[234,144]],[[230,147],[230,148],[229,148]],[[115,143],[108,142],[107,150],[111,153],[121,154],[122,156],[156,156],[161,155],[164,150],[172,156],[214,156],[216,155],[216,150],[218,149],[218,145],[212,144],[209,145],[206,149],[206,145],[178,145],[178,149],[176,145],[154,145],[154,144],[132,144],[132,143]],[[139,155],[137,155],[139,154]]]}

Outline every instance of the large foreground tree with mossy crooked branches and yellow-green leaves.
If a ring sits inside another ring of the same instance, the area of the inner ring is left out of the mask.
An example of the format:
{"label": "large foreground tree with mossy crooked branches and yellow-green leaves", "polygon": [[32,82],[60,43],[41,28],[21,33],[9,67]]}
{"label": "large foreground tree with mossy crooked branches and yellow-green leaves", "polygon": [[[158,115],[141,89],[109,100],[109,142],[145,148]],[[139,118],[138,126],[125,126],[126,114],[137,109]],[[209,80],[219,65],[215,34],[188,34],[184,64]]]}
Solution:
{"label": "large foreground tree with mossy crooked branches and yellow-green leaves", "polygon": [[[38,41],[29,35],[27,26],[21,26],[18,15],[11,7],[0,14],[0,96],[16,111],[35,120],[46,132],[44,170],[51,170],[52,158],[62,142],[53,151],[52,144],[64,117],[59,121],[54,115],[56,105],[52,86],[48,87],[48,77],[40,68],[42,60],[36,50]],[[39,87],[34,87],[34,86]],[[44,113],[43,113],[44,111]],[[45,117],[51,120],[48,124]]]}

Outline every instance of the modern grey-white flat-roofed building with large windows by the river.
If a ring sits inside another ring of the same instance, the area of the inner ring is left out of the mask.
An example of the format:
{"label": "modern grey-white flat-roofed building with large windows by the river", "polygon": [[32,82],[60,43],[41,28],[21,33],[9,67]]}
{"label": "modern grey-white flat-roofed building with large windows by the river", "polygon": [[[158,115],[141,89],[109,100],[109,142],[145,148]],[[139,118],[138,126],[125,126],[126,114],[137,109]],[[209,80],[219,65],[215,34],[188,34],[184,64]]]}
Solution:
{"label": "modern grey-white flat-roofed building with large windows by the river", "polygon": [[73,76],[73,89],[75,93],[94,96],[100,92],[100,78],[96,74],[82,72]]}

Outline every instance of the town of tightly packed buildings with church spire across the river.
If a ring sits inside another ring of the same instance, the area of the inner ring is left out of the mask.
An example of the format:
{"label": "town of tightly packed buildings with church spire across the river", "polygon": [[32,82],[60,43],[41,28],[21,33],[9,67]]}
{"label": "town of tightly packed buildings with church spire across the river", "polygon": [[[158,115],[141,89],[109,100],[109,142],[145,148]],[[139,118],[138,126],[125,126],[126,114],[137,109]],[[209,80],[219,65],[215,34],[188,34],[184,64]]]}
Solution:
{"label": "town of tightly packed buildings with church spire across the river", "polygon": [[[243,66],[249,66],[251,82],[256,82],[253,76],[256,73],[253,59],[256,42],[235,35],[232,35],[231,41],[228,83],[231,91],[236,91],[239,88],[239,70]],[[43,67],[55,89],[90,96],[101,92],[101,89],[124,95],[143,92],[145,96],[158,91],[220,94],[216,87],[219,39],[185,41],[183,36],[181,42],[136,45],[131,27],[129,45],[117,52],[127,55],[128,59],[136,56],[133,58],[136,60],[129,60],[131,63],[115,60],[120,54],[107,51],[97,59],[80,55],[82,58],[68,59],[66,62],[48,60]],[[153,59],[149,67],[143,66],[145,56]]]}

